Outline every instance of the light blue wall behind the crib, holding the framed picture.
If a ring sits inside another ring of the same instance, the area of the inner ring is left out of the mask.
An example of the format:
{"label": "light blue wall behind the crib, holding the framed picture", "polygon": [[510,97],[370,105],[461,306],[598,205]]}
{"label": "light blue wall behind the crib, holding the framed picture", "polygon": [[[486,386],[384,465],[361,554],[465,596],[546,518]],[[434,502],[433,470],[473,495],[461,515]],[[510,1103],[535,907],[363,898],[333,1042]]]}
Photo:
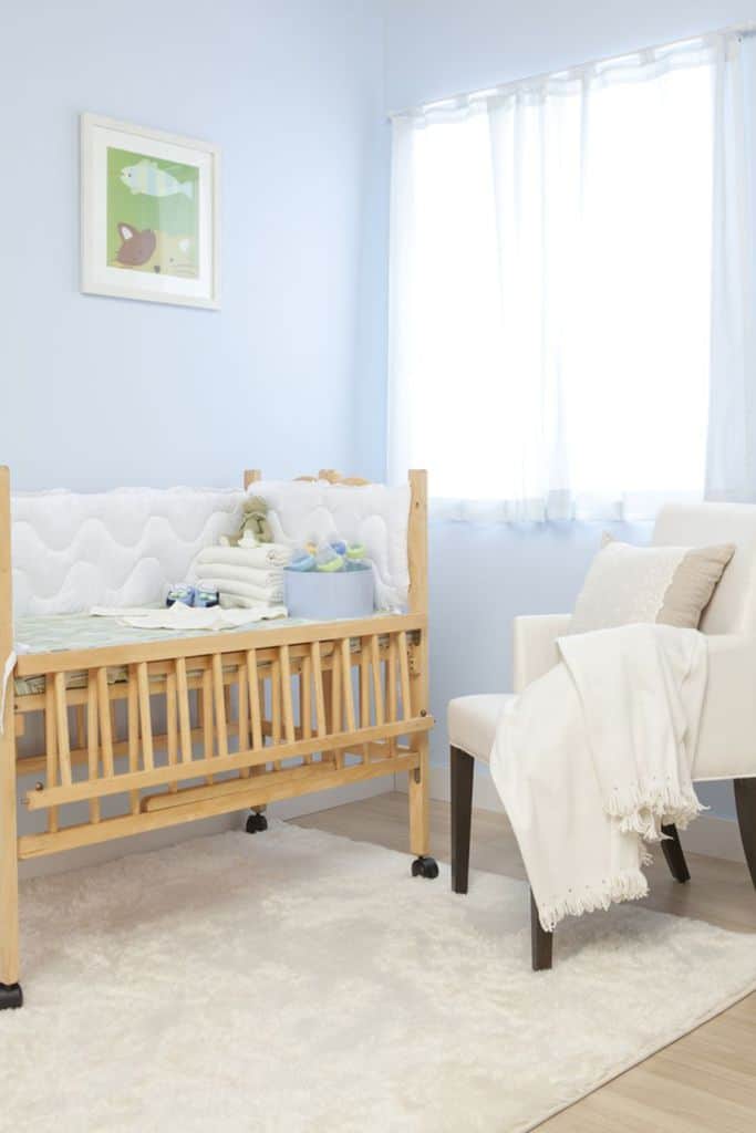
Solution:
{"label": "light blue wall behind the crib, holding the framed picture", "polygon": [[[377,0],[2,6],[0,460],[18,486],[363,466],[355,421],[384,375],[382,82]],[[222,147],[220,312],[79,295],[83,110]]]}

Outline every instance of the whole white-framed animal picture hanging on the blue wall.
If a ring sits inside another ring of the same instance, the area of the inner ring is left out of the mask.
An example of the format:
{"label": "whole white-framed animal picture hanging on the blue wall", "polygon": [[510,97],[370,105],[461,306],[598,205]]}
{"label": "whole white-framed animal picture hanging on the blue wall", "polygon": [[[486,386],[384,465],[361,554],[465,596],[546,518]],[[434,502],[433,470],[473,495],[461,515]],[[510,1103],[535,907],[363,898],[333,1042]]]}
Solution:
{"label": "whole white-framed animal picture hanging on the blue wall", "polygon": [[82,114],[82,291],[220,307],[220,150]]}

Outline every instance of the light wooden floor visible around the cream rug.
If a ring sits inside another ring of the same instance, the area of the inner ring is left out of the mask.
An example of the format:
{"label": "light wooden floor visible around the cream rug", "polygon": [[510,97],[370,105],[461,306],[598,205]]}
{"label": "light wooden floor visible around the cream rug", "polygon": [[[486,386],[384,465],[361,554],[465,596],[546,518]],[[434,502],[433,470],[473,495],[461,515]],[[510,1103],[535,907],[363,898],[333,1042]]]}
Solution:
{"label": "light wooden floor visible around the cream rug", "polygon": [[[407,850],[407,796],[398,792],[296,819],[332,834]],[[432,803],[432,853],[449,861],[449,807]],[[682,835],[685,847],[685,834]],[[661,858],[661,854],[659,855]],[[693,880],[672,881],[663,862],[649,870],[651,909],[754,932],[756,892],[745,864],[688,854]],[[473,869],[525,876],[502,816],[476,811]],[[559,940],[555,943],[559,962]],[[547,1133],[755,1133],[756,995],[660,1050],[639,1066],[545,1122]],[[460,1131],[464,1133],[464,1131]]]}

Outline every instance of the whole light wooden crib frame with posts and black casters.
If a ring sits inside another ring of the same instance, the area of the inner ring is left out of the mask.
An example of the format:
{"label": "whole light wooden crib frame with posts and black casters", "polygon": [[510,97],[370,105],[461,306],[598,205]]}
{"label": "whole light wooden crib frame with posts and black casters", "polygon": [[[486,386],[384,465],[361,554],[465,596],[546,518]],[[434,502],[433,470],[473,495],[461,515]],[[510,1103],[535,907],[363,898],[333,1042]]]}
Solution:
{"label": "whole light wooden crib frame with posts and black casters", "polygon": [[[245,488],[258,478],[247,471]],[[427,854],[425,472],[409,482],[405,614],[18,656],[0,736],[0,1008],[23,1003],[19,861],[245,808],[254,833],[269,802],[407,772],[413,874],[438,876]],[[14,649],[10,536],[0,468],[0,664]],[[17,695],[28,678],[43,678],[40,691]],[[22,757],[17,741],[34,727],[43,742]],[[37,782],[22,801],[44,812],[45,828],[19,837],[18,780],[28,775]],[[107,796],[119,813],[102,812]]]}

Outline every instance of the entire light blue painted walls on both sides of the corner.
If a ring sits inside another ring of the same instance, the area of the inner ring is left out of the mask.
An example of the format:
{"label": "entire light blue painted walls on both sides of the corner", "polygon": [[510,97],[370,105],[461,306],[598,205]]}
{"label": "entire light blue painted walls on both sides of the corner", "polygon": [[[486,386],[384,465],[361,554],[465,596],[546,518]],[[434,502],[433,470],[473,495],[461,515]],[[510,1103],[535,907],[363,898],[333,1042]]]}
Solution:
{"label": "entire light blue painted walls on both sides of the corner", "polygon": [[[756,18],[755,0],[388,0],[384,53],[383,7],[3,6],[0,460],[18,486],[380,477],[385,110]],[[221,312],[78,293],[82,110],[222,146]],[[568,608],[597,537],[433,528],[440,718],[509,685],[512,615]]]}

